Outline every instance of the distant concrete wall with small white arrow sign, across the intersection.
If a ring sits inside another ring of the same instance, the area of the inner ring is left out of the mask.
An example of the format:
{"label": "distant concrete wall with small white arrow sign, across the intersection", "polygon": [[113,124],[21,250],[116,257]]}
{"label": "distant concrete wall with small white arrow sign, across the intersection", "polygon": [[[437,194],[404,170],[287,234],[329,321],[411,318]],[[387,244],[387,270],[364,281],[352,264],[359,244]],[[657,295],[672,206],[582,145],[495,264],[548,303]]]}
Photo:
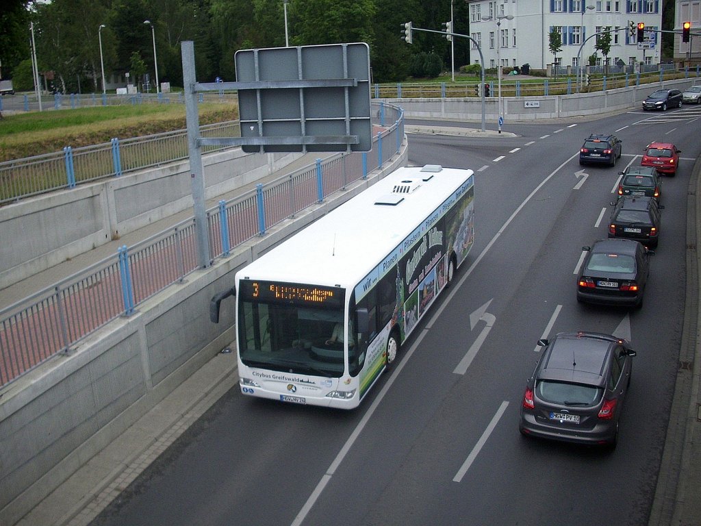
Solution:
{"label": "distant concrete wall with small white arrow sign, across the intersection", "polygon": [[[654,90],[692,86],[695,79],[679,79],[618,88],[576,95],[548,95],[543,97],[502,97],[504,121],[534,121],[584,115],[596,115],[635,107]],[[383,99],[404,109],[407,118],[451,119],[462,121],[482,120],[482,100],[477,97],[451,99]],[[528,102],[529,107],[526,107]],[[533,103],[538,107],[533,107]],[[485,119],[496,121],[498,101],[490,97],[484,102]]]}

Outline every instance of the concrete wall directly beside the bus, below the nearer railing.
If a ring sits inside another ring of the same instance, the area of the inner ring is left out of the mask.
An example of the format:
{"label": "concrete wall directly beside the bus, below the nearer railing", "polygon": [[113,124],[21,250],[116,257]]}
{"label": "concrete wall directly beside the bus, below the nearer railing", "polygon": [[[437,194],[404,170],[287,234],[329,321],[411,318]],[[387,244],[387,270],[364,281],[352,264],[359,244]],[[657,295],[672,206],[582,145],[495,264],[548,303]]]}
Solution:
{"label": "concrete wall directly beside the bus, below the nearer railing", "polygon": [[[400,154],[367,180],[190,274],[140,304],[134,315],[109,323],[69,355],[55,356],[0,391],[0,524],[18,522],[233,341],[233,302],[222,302],[219,324],[208,316],[210,298],[231,287],[236,270],[406,162],[404,139]],[[84,198],[99,203],[100,192]]]}

